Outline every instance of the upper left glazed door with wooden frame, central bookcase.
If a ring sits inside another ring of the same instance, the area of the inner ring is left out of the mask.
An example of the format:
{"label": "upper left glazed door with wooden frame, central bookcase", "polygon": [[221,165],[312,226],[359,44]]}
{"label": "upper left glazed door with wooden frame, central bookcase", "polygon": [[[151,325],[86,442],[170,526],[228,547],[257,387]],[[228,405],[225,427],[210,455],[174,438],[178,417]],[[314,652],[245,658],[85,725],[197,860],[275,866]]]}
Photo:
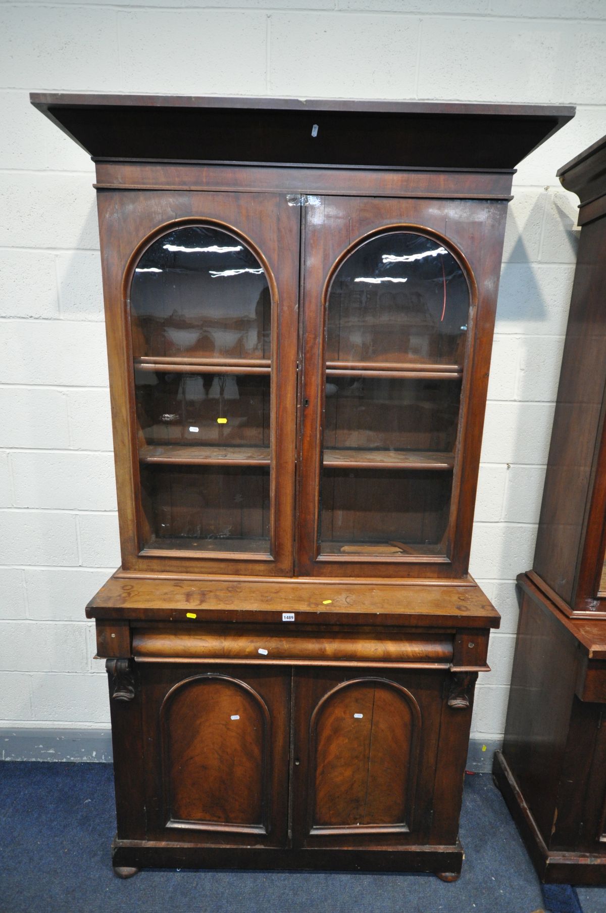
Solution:
{"label": "upper left glazed door with wooden frame, central bookcase", "polygon": [[278,194],[110,196],[106,247],[111,202],[128,205],[104,271],[110,322],[127,318],[121,355],[110,337],[123,565],[291,573],[298,211]]}

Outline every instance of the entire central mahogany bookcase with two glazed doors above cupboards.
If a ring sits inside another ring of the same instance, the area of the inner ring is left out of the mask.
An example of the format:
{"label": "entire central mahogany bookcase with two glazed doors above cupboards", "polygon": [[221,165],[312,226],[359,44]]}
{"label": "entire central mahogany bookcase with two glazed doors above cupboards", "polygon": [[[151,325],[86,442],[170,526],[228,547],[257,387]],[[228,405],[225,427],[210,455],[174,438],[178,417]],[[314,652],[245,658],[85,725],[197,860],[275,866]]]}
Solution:
{"label": "entire central mahogany bookcase with two glazed doors above cupboards", "polygon": [[454,879],[507,200],[573,109],[32,101],[97,168],[116,873]]}

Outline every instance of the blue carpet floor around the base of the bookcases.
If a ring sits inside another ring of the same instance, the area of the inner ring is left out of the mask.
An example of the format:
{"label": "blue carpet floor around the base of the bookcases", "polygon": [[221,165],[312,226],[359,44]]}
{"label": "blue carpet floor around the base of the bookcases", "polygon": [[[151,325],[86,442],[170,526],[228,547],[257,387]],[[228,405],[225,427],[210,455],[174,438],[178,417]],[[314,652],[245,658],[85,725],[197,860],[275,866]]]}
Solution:
{"label": "blue carpet floor around the base of the bookcases", "polygon": [[[109,764],[0,763],[2,913],[531,913],[537,876],[490,774],[465,778],[463,875],[144,870],[114,877]],[[606,913],[606,888],[578,888]]]}

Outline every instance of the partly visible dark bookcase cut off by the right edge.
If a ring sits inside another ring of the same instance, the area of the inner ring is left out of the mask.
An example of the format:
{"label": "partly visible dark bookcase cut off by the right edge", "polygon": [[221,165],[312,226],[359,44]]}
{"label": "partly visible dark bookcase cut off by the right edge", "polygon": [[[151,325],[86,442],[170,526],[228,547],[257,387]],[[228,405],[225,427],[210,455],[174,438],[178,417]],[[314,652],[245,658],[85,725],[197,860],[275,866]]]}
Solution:
{"label": "partly visible dark bookcase cut off by the right edge", "polygon": [[494,772],[541,879],[606,885],[606,137],[558,174],[579,254]]}

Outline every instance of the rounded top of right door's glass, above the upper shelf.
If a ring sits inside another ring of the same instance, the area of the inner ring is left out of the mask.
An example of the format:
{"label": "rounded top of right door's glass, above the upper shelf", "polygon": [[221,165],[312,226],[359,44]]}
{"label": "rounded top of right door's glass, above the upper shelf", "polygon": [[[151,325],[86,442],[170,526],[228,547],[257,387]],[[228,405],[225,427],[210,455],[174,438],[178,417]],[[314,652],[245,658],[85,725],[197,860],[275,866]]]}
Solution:
{"label": "rounded top of right door's glass, above the upper shelf", "polygon": [[461,365],[468,310],[465,275],[445,247],[413,232],[375,236],[330,285],[327,360]]}

